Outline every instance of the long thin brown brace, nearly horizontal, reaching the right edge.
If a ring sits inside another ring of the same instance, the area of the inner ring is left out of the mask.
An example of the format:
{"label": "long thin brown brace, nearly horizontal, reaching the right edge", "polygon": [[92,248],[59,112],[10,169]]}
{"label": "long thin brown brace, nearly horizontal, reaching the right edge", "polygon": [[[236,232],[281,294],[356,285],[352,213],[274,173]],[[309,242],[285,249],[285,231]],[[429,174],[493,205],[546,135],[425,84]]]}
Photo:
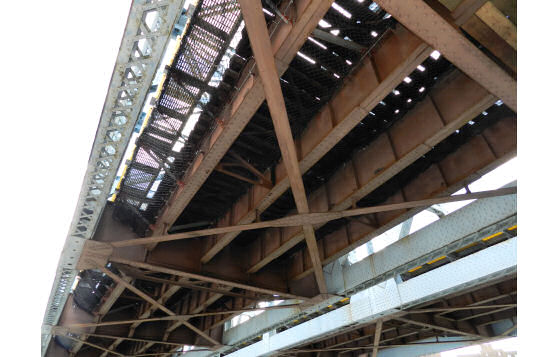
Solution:
{"label": "long thin brown brace, nearly horizontal, reaching the right edge", "polygon": [[[379,205],[379,206],[372,206],[372,207],[355,208],[355,209],[350,209],[345,211],[297,214],[297,215],[287,216],[275,220],[256,222],[250,224],[240,224],[237,226],[209,228],[209,229],[201,229],[198,231],[169,234],[169,235],[158,236],[158,237],[122,240],[122,241],[110,243],[110,245],[114,248],[121,248],[121,247],[137,246],[137,245],[146,245],[151,243],[160,243],[160,242],[169,242],[169,241],[182,240],[182,239],[206,237],[214,234],[222,234],[227,232],[242,232],[247,230],[272,228],[272,227],[296,227],[296,226],[302,226],[304,223],[315,225],[315,224],[326,223],[336,219],[363,216],[363,215],[368,215],[377,212],[397,211],[401,209],[432,206],[440,203],[450,203],[450,202],[467,201],[467,200],[481,199],[481,198],[488,198],[488,197],[513,195],[516,192],[517,192],[517,188],[507,187],[507,188],[500,188],[497,190],[472,192],[472,193],[466,193],[461,195],[428,198],[425,200],[418,200],[418,201],[408,201],[403,203],[393,203],[393,204]],[[111,258],[110,260],[113,262],[119,261],[119,259],[116,258]],[[193,278],[193,279],[203,280],[202,278]],[[226,284],[226,282],[222,284],[228,285]]]}

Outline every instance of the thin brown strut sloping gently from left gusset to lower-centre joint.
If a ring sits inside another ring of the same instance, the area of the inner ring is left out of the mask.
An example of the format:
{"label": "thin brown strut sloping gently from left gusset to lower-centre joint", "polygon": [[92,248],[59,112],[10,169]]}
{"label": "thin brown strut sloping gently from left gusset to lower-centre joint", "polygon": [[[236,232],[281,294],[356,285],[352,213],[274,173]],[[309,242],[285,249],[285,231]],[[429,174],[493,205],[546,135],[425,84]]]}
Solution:
{"label": "thin brown strut sloping gently from left gusset to lower-centre joint", "polygon": [[[218,278],[212,278],[212,277],[199,275],[199,274],[194,274],[194,273],[188,273],[188,272],[184,272],[184,271],[181,271],[181,270],[164,268],[164,267],[160,267],[160,266],[156,266],[156,265],[152,265],[152,264],[147,264],[147,263],[143,263],[143,262],[137,262],[137,261],[133,261],[133,260],[128,260],[128,259],[124,259],[124,258],[111,257],[110,261],[113,262],[113,263],[121,263],[121,264],[129,265],[129,266],[132,266],[132,267],[140,268],[140,269],[155,271],[155,272],[158,272],[158,273],[171,274],[171,275],[181,276],[181,277],[184,277],[184,278],[203,280],[203,281],[207,281],[207,282],[210,282],[210,283],[231,286],[231,287],[238,288],[238,289],[250,290],[250,291],[253,291],[253,292],[256,292],[256,293],[260,293],[260,294],[277,295],[277,296],[288,298],[288,299],[307,300],[307,298],[304,297],[304,296],[293,295],[293,294],[289,294],[289,293],[285,293],[285,292],[277,291],[277,290],[259,288],[259,287],[255,287],[255,286],[251,286],[251,285],[241,284],[241,283],[232,282],[232,281],[223,280],[223,279],[218,279]],[[113,273],[111,273],[111,274],[113,274]]]}

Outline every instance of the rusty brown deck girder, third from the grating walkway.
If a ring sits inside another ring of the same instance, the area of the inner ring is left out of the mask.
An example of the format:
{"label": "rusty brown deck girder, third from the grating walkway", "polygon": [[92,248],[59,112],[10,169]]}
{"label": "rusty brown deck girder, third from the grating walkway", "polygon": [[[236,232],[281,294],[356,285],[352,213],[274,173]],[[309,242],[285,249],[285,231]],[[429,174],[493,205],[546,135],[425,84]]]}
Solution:
{"label": "rusty brown deck girder, third from the grating walkway", "polygon": [[[494,101],[495,98],[486,90],[456,70],[438,83],[404,118],[357,152],[328,182],[316,189],[309,196],[312,210],[341,211],[351,207],[475,118]],[[259,271],[302,239],[301,230],[263,232],[251,247],[256,249],[262,246],[261,241],[266,241],[267,246],[276,248],[266,254],[253,251],[252,255],[260,258],[251,264],[248,272]],[[280,244],[276,246],[273,244],[275,241]]]}

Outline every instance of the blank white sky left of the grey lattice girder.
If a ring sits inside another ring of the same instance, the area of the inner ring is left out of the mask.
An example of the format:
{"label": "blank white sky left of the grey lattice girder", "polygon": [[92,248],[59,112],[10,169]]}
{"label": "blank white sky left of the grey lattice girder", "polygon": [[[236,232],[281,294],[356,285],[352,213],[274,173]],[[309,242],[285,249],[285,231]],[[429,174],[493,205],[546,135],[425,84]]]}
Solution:
{"label": "blank white sky left of the grey lattice girder", "polygon": [[[10,274],[3,274],[0,295],[15,343],[3,343],[2,355],[40,353],[40,326],[130,6],[129,0],[3,6],[1,264]],[[5,305],[12,293],[14,308]],[[29,329],[30,338],[23,332]]]}

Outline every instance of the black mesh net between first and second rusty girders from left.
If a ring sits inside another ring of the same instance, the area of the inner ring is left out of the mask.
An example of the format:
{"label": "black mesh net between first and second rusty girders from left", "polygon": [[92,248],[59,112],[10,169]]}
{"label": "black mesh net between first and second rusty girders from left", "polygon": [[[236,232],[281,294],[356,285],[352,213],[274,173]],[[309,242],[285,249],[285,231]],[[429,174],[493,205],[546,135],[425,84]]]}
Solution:
{"label": "black mesh net between first and second rusty girders from left", "polygon": [[[307,124],[338,91],[347,75],[354,71],[361,59],[378,43],[382,36],[395,25],[395,21],[383,10],[371,6],[373,2],[336,1],[319,22],[280,78],[282,93],[294,137],[305,130]],[[273,14],[272,8],[263,1],[267,21],[282,21]],[[269,15],[269,13],[271,15]],[[245,31],[245,30],[244,30]],[[242,57],[252,56],[247,37],[237,47]],[[270,113],[264,102],[236,139],[233,152],[259,171],[275,166],[281,155]],[[228,153],[223,163],[234,162]],[[229,171],[256,180],[250,171],[231,167]],[[250,183],[213,172],[176,225],[199,220],[215,220],[225,214],[247,189]],[[206,202],[211,204],[207,205]],[[261,218],[283,216],[292,207],[293,197],[288,191]]]}

